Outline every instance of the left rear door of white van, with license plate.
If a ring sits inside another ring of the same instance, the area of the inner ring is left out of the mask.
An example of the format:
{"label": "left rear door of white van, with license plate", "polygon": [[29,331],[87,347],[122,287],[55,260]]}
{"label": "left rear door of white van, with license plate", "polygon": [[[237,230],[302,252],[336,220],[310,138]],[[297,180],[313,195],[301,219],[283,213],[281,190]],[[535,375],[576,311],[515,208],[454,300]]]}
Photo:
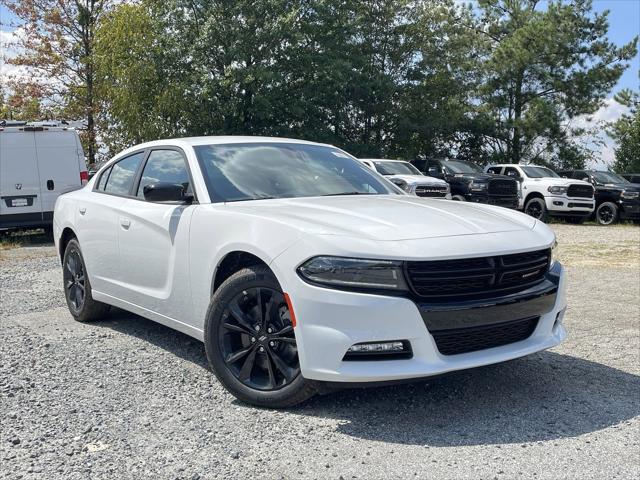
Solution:
{"label": "left rear door of white van, with license plate", "polygon": [[0,228],[39,226],[42,197],[34,132],[0,131]]}

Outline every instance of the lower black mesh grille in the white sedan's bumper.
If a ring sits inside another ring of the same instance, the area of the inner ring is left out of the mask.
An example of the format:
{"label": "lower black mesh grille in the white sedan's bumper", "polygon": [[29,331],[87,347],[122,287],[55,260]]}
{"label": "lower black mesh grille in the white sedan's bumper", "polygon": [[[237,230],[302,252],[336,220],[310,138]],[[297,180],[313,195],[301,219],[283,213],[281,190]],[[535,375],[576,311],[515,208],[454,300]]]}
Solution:
{"label": "lower black mesh grille in the white sedan's bumper", "polygon": [[536,329],[539,319],[529,317],[493,325],[441,330],[432,332],[432,335],[442,355],[458,355],[525,340]]}

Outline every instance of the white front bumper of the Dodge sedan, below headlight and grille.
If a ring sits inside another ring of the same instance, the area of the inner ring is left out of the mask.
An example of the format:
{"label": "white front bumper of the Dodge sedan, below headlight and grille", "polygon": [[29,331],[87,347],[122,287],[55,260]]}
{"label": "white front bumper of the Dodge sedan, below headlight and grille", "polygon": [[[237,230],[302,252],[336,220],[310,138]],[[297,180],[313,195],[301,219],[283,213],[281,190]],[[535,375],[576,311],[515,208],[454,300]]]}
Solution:
{"label": "white front bumper of the Dodge sedan, below headlight and grille", "polygon": [[[566,337],[566,276],[556,263],[539,286],[517,295],[457,305],[428,305],[394,296],[331,290],[299,284],[291,292],[295,329],[305,378],[325,382],[383,382],[428,377],[522,357],[558,345]],[[434,335],[448,328],[473,327],[539,317],[526,339],[484,350],[443,355]],[[413,357],[344,361],[361,342],[408,340]]]}

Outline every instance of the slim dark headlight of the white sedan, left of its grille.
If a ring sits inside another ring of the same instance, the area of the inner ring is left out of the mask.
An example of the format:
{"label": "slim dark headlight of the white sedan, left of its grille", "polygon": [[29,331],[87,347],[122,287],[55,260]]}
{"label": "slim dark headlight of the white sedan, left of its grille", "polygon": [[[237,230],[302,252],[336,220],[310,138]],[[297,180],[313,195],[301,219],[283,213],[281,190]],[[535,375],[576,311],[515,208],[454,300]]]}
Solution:
{"label": "slim dark headlight of the white sedan, left of its grille", "polygon": [[314,257],[298,267],[298,274],[329,287],[407,290],[402,262],[391,260]]}

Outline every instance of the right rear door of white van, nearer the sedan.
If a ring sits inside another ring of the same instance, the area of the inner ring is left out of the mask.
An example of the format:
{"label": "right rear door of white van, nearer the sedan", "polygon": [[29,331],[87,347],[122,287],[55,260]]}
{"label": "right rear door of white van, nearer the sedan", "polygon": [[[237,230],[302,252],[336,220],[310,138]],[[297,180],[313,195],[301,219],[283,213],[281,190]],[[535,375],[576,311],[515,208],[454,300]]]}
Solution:
{"label": "right rear door of white van, nearer the sedan", "polygon": [[79,157],[84,162],[84,156],[77,136],[75,130],[35,132],[45,220],[53,218],[53,207],[61,193],[82,186]]}

